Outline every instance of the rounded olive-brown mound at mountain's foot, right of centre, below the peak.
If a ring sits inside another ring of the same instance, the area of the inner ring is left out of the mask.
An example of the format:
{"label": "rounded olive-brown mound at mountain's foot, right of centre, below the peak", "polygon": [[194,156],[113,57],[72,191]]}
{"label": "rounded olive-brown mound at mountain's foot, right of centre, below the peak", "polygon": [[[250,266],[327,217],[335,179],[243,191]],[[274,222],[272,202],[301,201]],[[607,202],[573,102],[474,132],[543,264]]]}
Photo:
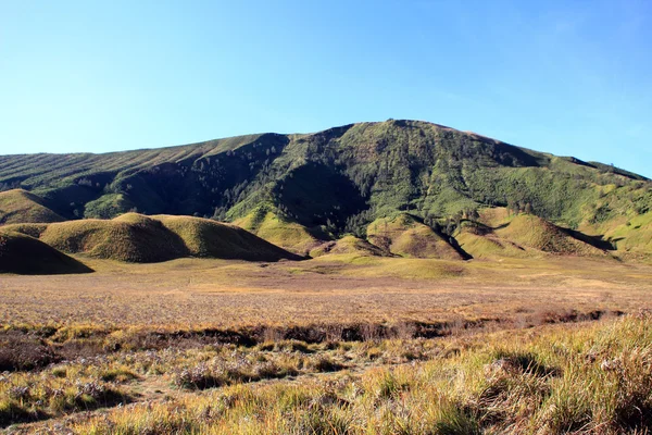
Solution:
{"label": "rounded olive-brown mound at mountain's foot, right of centre, below the peak", "polygon": [[463,260],[465,256],[441,235],[409,214],[384,217],[367,226],[369,241],[403,257]]}

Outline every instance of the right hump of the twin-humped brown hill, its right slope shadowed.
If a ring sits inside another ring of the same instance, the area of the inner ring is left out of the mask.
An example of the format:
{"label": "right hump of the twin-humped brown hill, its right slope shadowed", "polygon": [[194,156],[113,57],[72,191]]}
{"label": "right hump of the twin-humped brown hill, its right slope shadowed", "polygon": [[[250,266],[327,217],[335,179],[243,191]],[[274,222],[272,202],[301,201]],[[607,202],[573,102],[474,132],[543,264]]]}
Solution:
{"label": "right hump of the twin-humped brown hill, its right slope shadowed", "polygon": [[236,225],[190,216],[152,217],[179,236],[191,256],[250,261],[300,259]]}

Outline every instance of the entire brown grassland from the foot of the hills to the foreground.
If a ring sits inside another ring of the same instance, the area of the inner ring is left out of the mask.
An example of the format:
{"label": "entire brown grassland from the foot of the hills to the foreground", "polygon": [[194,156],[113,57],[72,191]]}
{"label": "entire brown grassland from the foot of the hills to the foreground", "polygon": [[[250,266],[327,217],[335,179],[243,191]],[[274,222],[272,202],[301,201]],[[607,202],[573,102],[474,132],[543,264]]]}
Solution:
{"label": "entire brown grassland from the foot of the hills to the foreground", "polygon": [[0,430],[648,433],[652,265],[75,256],[0,276]]}

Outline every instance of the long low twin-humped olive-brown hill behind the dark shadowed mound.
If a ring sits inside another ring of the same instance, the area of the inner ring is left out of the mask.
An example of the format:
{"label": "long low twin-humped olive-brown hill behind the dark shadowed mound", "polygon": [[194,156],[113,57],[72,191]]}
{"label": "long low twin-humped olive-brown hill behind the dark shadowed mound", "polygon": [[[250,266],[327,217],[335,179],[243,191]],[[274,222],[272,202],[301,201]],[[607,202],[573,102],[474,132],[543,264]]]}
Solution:
{"label": "long low twin-humped olive-brown hill behind the dark shadowed mound", "polygon": [[49,225],[8,225],[67,253],[150,263],[183,257],[251,261],[299,259],[235,225],[191,216],[123,214],[113,220],[88,219]]}

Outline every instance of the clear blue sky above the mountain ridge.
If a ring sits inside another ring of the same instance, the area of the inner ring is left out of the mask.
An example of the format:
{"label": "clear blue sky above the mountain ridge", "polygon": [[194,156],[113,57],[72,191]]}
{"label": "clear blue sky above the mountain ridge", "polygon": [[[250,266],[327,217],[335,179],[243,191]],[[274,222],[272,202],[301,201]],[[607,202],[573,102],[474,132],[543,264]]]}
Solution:
{"label": "clear blue sky above the mountain ridge", "polygon": [[652,2],[0,0],[0,153],[388,117],[652,177]]}

